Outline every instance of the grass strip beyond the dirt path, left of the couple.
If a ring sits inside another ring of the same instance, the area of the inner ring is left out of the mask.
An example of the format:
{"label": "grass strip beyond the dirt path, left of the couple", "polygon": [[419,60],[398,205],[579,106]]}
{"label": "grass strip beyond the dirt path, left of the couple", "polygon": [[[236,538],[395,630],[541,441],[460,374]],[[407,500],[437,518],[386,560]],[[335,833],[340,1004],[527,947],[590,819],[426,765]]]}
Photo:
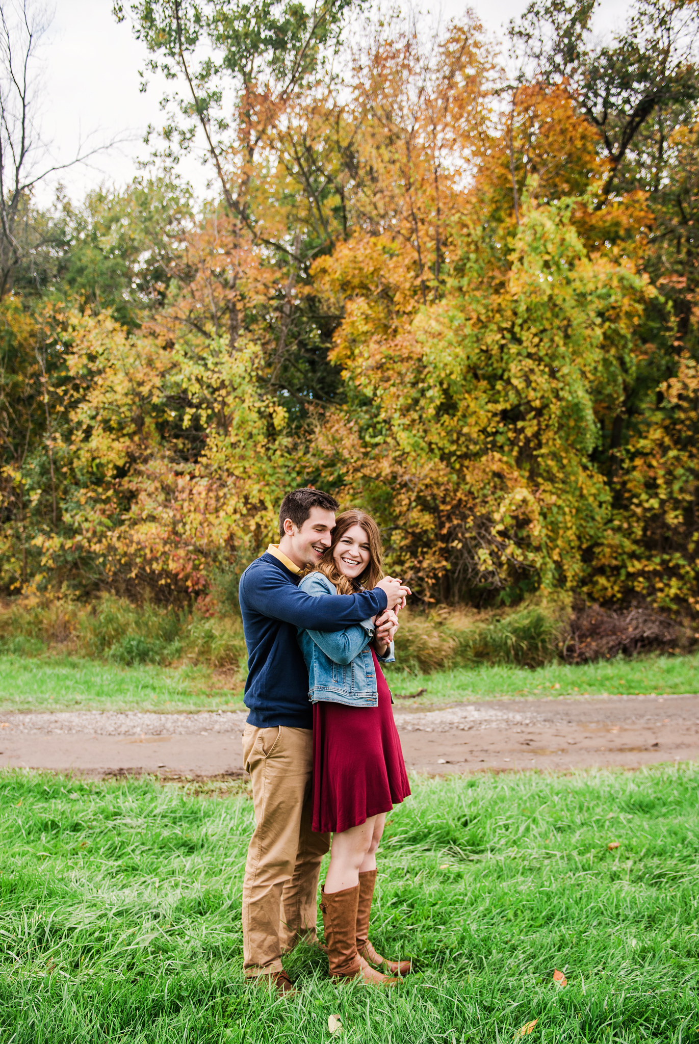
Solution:
{"label": "grass strip beyond the dirt path, left of the couple", "polygon": [[120,667],[80,657],[0,656],[2,710],[240,710],[238,691],[208,667]]}

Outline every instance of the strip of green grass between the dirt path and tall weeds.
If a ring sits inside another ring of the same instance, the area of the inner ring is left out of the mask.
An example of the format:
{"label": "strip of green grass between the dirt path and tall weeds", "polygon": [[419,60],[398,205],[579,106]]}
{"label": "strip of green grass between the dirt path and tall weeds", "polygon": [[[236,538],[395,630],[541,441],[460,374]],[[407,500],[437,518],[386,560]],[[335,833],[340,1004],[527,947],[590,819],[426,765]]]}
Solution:
{"label": "strip of green grass between the dirt path and tall weeds", "polygon": [[[439,704],[500,696],[599,695],[697,692],[699,655],[648,657],[570,666],[461,667],[432,674],[388,671],[396,693],[425,688],[415,703]],[[121,667],[101,660],[59,656],[0,655],[2,710],[242,709],[241,688],[231,675],[208,667]]]}

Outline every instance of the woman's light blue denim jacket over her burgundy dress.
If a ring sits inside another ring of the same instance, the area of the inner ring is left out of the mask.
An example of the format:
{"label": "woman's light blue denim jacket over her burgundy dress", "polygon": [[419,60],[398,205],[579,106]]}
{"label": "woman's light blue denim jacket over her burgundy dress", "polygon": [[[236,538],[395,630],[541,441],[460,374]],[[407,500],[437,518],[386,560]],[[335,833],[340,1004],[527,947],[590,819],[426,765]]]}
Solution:
{"label": "woman's light blue denim jacket over her burgundy dress", "polygon": [[[324,573],[308,573],[299,587],[306,594],[336,594]],[[308,698],[316,704],[326,701],[348,707],[378,706],[376,671],[369,643],[374,637],[371,620],[344,631],[305,631],[299,628],[298,642],[308,667]],[[376,654],[378,656],[378,654]],[[393,642],[382,663],[393,663]]]}

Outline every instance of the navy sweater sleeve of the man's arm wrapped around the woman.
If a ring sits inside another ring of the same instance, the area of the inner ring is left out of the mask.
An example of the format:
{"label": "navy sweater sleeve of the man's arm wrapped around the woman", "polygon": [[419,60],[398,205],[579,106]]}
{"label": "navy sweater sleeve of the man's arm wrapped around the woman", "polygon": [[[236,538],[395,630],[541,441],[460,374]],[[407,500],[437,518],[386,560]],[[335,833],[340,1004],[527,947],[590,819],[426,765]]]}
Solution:
{"label": "navy sweater sleeve of the man's arm wrapped around the woman", "polygon": [[251,609],[273,620],[284,620],[308,631],[339,631],[382,613],[386,592],[380,588],[360,594],[306,594],[275,566],[262,566],[241,578]]}

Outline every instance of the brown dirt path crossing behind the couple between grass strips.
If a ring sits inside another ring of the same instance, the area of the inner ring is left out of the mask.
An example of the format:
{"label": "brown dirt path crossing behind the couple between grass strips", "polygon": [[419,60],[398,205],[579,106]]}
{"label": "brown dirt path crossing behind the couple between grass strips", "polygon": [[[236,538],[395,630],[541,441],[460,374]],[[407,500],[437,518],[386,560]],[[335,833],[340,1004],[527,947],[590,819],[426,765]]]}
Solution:
{"label": "brown dirt path crossing behind the couple between grass strips", "polygon": [[[699,757],[699,695],[502,699],[394,708],[409,769],[637,768]],[[90,776],[242,775],[244,713],[0,714],[0,766]]]}

